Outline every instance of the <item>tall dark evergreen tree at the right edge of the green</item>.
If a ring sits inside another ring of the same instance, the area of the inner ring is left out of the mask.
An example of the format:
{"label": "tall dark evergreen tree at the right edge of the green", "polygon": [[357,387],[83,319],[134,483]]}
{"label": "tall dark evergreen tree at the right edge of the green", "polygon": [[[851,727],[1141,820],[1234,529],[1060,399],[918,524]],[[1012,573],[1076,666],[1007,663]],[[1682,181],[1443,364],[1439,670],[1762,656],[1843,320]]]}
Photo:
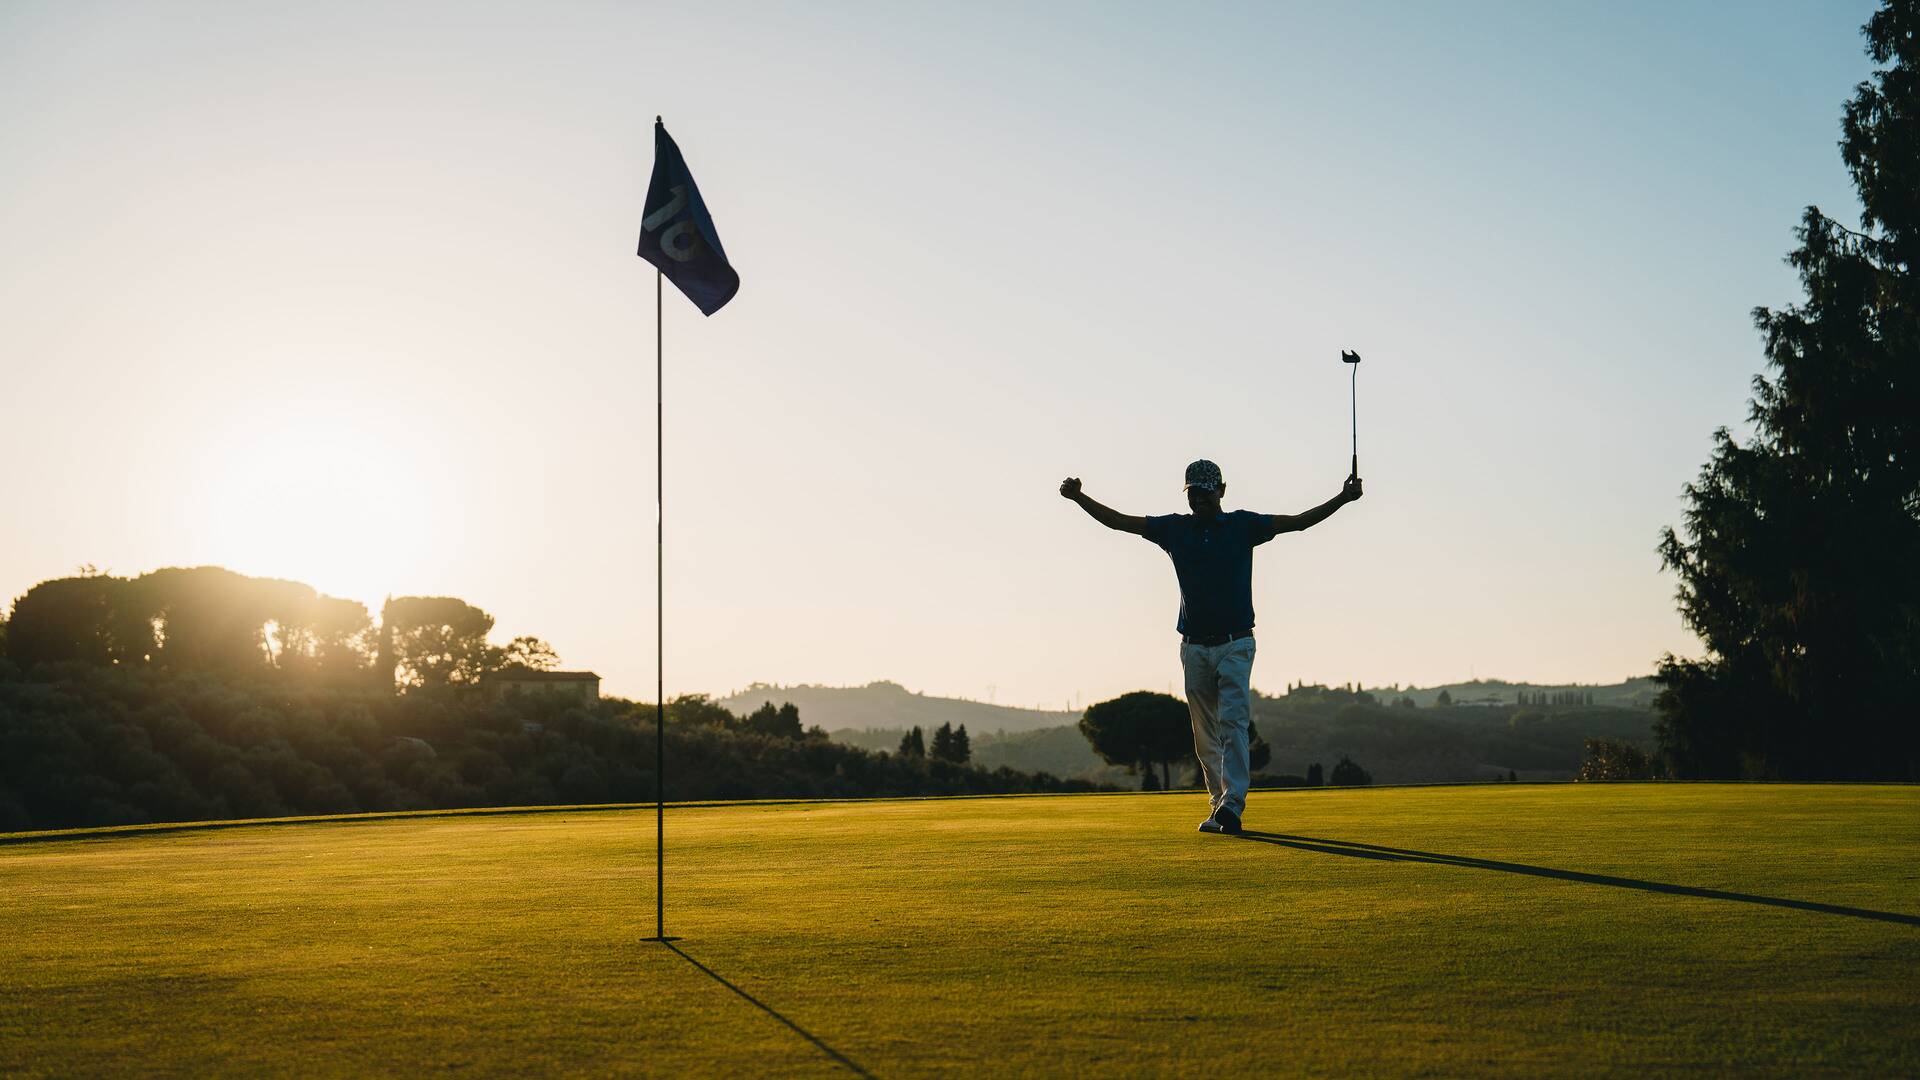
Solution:
{"label": "tall dark evergreen tree at the right edge of the green", "polygon": [[1860,229],[1807,208],[1803,302],[1755,311],[1753,436],[1715,432],[1661,557],[1705,644],[1659,667],[1682,778],[1916,778],[1920,736],[1920,0],[1864,27],[1841,121]]}

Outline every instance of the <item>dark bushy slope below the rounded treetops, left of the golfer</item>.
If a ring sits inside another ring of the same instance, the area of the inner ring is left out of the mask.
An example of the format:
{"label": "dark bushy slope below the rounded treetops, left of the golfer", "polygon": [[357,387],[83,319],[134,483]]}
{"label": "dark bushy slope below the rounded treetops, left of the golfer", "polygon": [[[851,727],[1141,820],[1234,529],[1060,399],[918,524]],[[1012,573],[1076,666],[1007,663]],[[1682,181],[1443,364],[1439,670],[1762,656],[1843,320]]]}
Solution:
{"label": "dark bushy slope below the rounded treetops, left of the golfer", "polygon": [[[653,717],[618,698],[0,659],[0,832],[651,801]],[[684,696],[664,734],[676,801],[1110,790],[841,746],[791,705],[735,715]]]}

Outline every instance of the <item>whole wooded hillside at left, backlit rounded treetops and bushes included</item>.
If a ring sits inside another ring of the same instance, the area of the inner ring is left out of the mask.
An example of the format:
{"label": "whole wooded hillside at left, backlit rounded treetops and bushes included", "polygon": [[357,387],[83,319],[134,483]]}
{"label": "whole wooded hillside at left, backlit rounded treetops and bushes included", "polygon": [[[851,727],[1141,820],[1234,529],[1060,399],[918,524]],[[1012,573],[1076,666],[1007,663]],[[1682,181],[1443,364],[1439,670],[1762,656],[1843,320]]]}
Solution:
{"label": "whole wooded hillside at left, backlit rounded treetops and bushes included", "polygon": [[[445,596],[365,605],[221,567],[83,569],[0,621],[0,832],[305,813],[649,801],[653,705],[484,694],[551,669],[540,638]],[[670,799],[1085,792],[1104,784],[874,753],[793,703],[666,707]]]}

